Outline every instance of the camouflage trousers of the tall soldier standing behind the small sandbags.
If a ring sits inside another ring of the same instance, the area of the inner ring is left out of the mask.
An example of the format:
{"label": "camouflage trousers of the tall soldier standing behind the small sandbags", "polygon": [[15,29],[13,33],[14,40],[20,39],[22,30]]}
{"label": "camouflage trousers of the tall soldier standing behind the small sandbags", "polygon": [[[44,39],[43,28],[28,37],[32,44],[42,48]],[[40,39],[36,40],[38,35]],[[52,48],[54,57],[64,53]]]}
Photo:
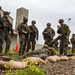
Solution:
{"label": "camouflage trousers of the tall soldier standing behind the small sandbags", "polygon": [[61,38],[60,39],[60,55],[62,54],[67,55],[67,50],[68,50],[68,39]]}

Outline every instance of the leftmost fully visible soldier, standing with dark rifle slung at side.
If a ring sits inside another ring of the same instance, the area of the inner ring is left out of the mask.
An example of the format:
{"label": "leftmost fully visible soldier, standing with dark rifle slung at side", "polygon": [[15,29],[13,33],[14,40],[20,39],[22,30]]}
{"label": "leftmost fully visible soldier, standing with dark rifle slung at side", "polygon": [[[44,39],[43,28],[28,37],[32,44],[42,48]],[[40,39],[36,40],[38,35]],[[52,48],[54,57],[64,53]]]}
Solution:
{"label": "leftmost fully visible soldier, standing with dark rifle slung at side", "polygon": [[4,11],[3,17],[2,17],[2,23],[3,23],[3,26],[4,26],[4,30],[3,30],[4,40],[5,40],[5,43],[6,43],[5,54],[7,54],[7,52],[10,49],[10,45],[11,45],[10,32],[13,35],[12,24],[8,20],[9,14],[10,14],[9,12]]}

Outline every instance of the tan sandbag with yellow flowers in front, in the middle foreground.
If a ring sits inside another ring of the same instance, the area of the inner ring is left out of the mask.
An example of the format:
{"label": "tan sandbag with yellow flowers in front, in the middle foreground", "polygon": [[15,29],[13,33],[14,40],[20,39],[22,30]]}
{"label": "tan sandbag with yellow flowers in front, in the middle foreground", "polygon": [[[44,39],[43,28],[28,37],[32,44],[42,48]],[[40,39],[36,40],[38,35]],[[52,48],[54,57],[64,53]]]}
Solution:
{"label": "tan sandbag with yellow flowers in front, in the middle foreground", "polygon": [[23,61],[25,62],[28,62],[29,64],[45,64],[46,61],[39,58],[39,57],[28,57],[28,58],[25,58]]}

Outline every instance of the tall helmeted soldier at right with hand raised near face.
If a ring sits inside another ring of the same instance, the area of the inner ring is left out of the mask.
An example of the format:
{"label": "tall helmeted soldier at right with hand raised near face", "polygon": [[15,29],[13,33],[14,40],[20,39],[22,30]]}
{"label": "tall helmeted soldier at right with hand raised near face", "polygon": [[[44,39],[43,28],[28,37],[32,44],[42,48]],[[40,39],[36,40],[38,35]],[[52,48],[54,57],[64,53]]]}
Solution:
{"label": "tall helmeted soldier at right with hand raised near face", "polygon": [[63,19],[59,19],[59,24],[57,33],[60,34],[60,55],[64,54],[67,55],[67,50],[68,50],[68,40],[69,40],[69,35],[70,35],[70,29],[69,27],[64,24]]}

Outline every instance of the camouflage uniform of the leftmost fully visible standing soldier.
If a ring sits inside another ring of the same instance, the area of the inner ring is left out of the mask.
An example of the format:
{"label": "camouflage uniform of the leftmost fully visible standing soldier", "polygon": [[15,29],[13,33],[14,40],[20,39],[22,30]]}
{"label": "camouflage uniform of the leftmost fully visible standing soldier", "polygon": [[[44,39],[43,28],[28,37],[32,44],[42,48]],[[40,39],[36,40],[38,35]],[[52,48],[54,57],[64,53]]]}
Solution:
{"label": "camouflage uniform of the leftmost fully visible standing soldier", "polygon": [[9,30],[9,26],[8,26],[8,18],[6,17],[2,17],[2,23],[4,25],[4,40],[6,43],[6,48],[5,48],[5,53],[7,53],[10,49],[10,45],[11,45],[11,37],[10,37],[10,30]]}

